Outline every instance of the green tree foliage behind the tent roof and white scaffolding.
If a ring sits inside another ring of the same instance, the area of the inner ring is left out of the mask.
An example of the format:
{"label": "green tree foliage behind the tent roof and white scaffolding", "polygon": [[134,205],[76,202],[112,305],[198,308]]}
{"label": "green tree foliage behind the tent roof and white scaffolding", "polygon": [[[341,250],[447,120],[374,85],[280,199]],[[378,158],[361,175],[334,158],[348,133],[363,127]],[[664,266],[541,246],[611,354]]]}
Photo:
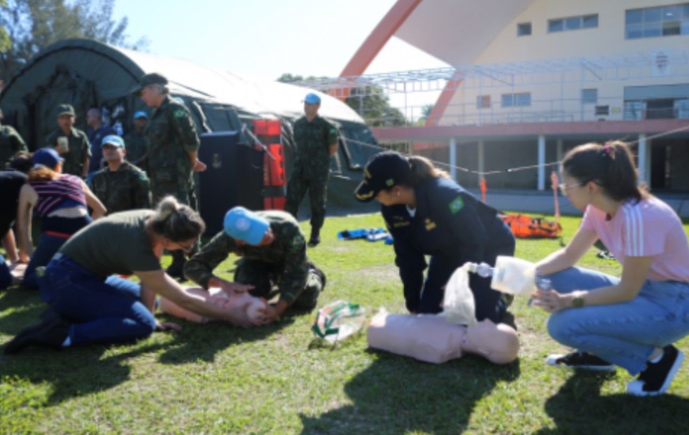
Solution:
{"label": "green tree foliage behind the tent roof and white scaffolding", "polygon": [[[316,77],[309,76],[304,78],[285,73],[279,76],[277,81],[283,83],[309,82],[316,81]],[[359,113],[359,116],[366,120],[366,123],[371,127],[405,125],[406,123],[402,111],[390,105],[390,99],[385,95],[382,88],[375,86],[354,88],[344,102],[347,106],[354,109],[356,113]]]}

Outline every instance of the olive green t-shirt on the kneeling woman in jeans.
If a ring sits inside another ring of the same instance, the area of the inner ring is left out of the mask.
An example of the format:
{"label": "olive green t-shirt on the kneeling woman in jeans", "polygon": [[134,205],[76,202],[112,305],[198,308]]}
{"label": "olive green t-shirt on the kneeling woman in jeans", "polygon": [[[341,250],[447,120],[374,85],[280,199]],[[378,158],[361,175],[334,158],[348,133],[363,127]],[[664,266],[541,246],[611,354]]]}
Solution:
{"label": "olive green t-shirt on the kneeling woman in jeans", "polygon": [[146,233],[153,210],[114,213],[81,228],[60,252],[95,275],[131,275],[162,269]]}

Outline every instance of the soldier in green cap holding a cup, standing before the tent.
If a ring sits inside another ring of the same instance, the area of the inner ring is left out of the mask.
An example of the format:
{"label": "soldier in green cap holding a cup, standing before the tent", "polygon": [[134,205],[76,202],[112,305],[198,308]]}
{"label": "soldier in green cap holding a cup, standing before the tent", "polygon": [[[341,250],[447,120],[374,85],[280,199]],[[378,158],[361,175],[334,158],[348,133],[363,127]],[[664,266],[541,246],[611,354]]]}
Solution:
{"label": "soldier in green cap holding a cup, standing before the tent", "polygon": [[76,113],[71,104],[57,106],[57,125],[59,128],[46,138],[46,146],[50,146],[64,159],[62,172],[72,174],[82,179],[88,174],[88,160],[91,149],[86,133],[74,127]]}

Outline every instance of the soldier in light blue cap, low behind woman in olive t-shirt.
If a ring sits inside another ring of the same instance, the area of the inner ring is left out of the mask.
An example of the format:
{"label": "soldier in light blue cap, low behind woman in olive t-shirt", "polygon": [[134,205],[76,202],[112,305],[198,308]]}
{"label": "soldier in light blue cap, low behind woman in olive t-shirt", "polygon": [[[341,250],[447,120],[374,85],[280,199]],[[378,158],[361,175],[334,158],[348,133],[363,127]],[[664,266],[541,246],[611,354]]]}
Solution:
{"label": "soldier in light blue cap, low behind woman in olive t-shirt", "polygon": [[125,141],[111,134],[101,142],[106,167],[96,172],[92,191],[108,214],[151,208],[151,188],[146,173],[125,160]]}

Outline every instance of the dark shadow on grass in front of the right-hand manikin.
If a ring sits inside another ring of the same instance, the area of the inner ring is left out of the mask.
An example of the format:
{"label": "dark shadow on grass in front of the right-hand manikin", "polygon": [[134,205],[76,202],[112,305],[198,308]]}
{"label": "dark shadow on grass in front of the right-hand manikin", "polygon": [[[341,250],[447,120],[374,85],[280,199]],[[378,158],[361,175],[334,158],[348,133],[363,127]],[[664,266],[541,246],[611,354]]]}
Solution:
{"label": "dark shadow on grass in front of the right-hand manikin", "polygon": [[445,364],[369,350],[377,358],[344,385],[351,405],[300,415],[302,434],[459,434],[475,404],[498,382],[520,375],[519,361],[496,366],[473,355]]}

